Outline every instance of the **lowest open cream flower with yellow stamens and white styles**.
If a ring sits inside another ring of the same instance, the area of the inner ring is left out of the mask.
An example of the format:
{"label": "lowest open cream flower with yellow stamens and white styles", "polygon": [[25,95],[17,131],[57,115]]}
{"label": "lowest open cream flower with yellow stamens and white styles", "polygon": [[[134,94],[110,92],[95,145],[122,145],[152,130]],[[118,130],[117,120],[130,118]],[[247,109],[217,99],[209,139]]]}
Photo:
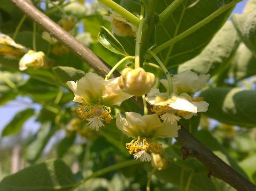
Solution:
{"label": "lowest open cream flower with yellow stamens and white styles", "polygon": [[163,152],[162,145],[155,142],[156,137],[176,137],[180,126],[177,123],[161,123],[157,114],[140,115],[135,112],[126,112],[126,119],[118,113],[116,126],[119,130],[134,139],[126,143],[126,148],[135,159],[149,162],[149,153]]}

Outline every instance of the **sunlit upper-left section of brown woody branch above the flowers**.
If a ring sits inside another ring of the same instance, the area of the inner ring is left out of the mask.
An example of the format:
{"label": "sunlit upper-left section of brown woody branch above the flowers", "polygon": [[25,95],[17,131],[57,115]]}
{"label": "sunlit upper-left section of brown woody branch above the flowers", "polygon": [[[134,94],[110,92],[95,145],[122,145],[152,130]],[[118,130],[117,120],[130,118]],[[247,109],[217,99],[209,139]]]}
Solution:
{"label": "sunlit upper-left section of brown woody branch above the flowers", "polygon": [[[105,76],[110,71],[111,67],[97,57],[89,48],[78,42],[73,36],[62,29],[59,25],[53,22],[49,17],[38,10],[30,0],[9,0],[13,2],[23,13],[38,25],[43,27],[59,42],[67,46],[80,59],[85,61],[90,67],[95,69],[101,76]],[[117,73],[115,73],[118,75]]]}

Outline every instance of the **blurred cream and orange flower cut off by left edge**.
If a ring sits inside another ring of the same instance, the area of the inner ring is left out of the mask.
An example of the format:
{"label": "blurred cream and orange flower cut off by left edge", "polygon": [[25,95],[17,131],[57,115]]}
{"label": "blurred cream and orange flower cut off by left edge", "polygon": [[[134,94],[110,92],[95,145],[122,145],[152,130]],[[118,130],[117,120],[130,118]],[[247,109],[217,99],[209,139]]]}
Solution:
{"label": "blurred cream and orange flower cut off by left edge", "polygon": [[11,37],[5,34],[0,34],[0,54],[3,55],[4,58],[16,59],[17,57],[24,55],[27,51],[27,48],[20,44],[16,44]]}

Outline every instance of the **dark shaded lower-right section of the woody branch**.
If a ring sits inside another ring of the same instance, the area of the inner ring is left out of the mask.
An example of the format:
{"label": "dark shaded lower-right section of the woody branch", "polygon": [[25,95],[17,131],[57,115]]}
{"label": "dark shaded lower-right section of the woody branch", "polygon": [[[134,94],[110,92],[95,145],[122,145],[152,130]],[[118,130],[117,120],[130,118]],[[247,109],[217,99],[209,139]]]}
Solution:
{"label": "dark shaded lower-right section of the woody branch", "polygon": [[221,179],[238,191],[256,191],[254,184],[228,166],[184,128],[178,131],[176,140],[182,145],[183,159],[189,155],[197,158],[209,168],[211,176]]}

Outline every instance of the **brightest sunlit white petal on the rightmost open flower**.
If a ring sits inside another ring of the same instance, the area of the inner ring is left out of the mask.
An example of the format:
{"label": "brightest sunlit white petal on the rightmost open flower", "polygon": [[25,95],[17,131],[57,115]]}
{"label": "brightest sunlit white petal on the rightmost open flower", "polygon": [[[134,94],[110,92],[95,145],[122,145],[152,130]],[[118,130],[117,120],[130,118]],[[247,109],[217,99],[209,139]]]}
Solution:
{"label": "brightest sunlit white petal on the rightmost open flower", "polygon": [[193,103],[190,103],[186,99],[182,99],[178,97],[176,101],[173,103],[169,104],[169,107],[177,110],[182,110],[182,111],[189,111],[191,113],[197,113],[197,107],[193,105]]}

